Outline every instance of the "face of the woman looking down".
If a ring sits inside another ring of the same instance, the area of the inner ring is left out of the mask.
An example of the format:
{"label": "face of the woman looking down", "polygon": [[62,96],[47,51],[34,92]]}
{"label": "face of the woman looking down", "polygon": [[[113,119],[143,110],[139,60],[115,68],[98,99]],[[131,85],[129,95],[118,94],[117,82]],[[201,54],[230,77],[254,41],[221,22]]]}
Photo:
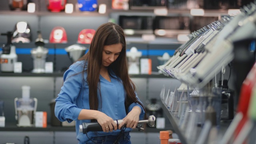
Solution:
{"label": "face of the woman looking down", "polygon": [[104,46],[102,51],[102,65],[109,66],[112,62],[114,62],[120,52],[122,51],[122,44],[112,44],[108,46]]}

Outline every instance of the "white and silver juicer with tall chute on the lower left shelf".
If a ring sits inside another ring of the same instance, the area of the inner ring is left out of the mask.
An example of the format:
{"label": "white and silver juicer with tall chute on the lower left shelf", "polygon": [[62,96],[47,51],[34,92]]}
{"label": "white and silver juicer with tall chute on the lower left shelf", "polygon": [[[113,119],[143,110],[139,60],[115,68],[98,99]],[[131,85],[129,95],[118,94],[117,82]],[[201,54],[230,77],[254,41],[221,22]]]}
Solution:
{"label": "white and silver juicer with tall chute on the lower left shelf", "polygon": [[36,113],[37,99],[30,98],[30,86],[22,86],[22,98],[15,98],[14,106],[17,126],[34,126],[34,114]]}

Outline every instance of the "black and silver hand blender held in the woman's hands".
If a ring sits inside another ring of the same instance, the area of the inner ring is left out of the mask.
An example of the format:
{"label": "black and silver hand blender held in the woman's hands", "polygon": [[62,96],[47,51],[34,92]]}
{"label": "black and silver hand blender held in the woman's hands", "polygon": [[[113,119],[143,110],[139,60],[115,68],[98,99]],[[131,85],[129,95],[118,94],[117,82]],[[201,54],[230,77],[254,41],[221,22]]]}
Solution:
{"label": "black and silver hand blender held in the woman's hands", "polygon": [[[155,121],[156,121],[156,117],[151,115],[151,116],[148,116],[148,120],[139,120],[138,124],[148,123],[150,127],[155,127],[156,126]],[[114,120],[114,122],[118,126],[118,124],[121,124],[123,120]],[[139,131],[144,130],[139,126],[137,126],[136,128],[138,128]],[[98,122],[90,122],[90,123],[83,122],[82,124],[79,125],[79,132],[86,134],[86,132],[90,132],[90,131],[96,132],[96,131],[103,131],[103,130]]]}

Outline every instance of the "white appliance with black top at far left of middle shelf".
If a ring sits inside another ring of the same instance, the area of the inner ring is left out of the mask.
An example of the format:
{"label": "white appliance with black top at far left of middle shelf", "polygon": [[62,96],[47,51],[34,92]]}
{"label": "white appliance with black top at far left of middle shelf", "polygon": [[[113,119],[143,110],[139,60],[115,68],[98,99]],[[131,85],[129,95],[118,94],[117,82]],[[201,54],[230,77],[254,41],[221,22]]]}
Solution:
{"label": "white appliance with black top at far left of middle shelf", "polygon": [[7,36],[7,44],[2,47],[2,54],[0,55],[1,72],[14,72],[14,63],[17,62],[16,48],[12,45],[12,32],[1,34]]}

